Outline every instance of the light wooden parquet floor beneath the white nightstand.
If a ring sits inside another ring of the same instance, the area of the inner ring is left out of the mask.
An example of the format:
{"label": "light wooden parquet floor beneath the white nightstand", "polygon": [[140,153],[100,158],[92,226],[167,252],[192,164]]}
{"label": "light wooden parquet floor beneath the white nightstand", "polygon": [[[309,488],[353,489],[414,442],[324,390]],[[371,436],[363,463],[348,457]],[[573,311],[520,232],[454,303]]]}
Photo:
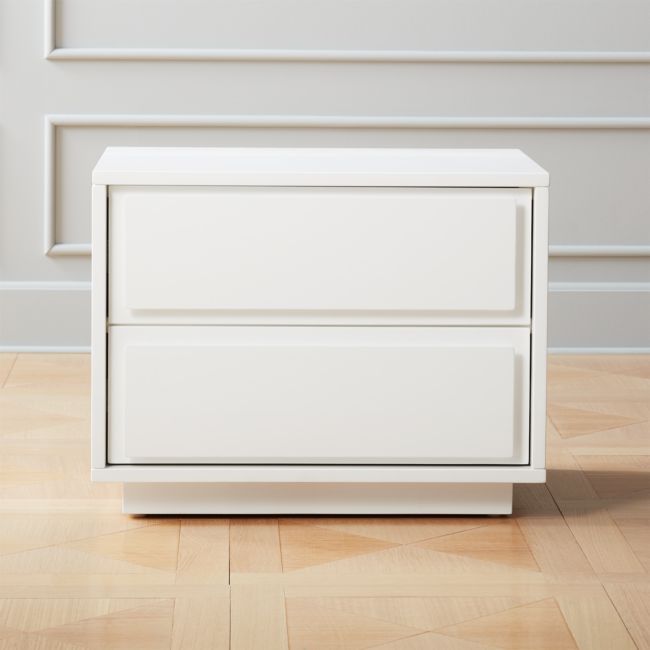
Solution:
{"label": "light wooden parquet floor beneath the white nightstand", "polygon": [[650,357],[555,357],[512,518],[130,518],[89,358],[0,355],[0,648],[650,648]]}

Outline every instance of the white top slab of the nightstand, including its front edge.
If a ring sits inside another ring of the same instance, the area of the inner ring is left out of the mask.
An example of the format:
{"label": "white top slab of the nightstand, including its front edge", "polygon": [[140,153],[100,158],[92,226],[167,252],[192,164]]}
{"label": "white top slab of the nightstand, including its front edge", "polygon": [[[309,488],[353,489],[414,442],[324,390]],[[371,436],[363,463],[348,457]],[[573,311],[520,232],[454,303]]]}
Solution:
{"label": "white top slab of the nightstand, including its front edge", "polygon": [[108,147],[97,185],[543,187],[519,149]]}

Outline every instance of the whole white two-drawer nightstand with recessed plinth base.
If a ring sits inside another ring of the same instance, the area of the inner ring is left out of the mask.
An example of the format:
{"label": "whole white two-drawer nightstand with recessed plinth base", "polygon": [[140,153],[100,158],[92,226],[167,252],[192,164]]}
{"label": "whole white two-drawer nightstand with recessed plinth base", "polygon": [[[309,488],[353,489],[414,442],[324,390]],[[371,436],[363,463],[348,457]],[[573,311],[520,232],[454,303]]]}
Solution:
{"label": "whole white two-drawer nightstand with recessed plinth base", "polygon": [[511,512],[547,206],[512,149],[107,149],[93,479],[132,513]]}

